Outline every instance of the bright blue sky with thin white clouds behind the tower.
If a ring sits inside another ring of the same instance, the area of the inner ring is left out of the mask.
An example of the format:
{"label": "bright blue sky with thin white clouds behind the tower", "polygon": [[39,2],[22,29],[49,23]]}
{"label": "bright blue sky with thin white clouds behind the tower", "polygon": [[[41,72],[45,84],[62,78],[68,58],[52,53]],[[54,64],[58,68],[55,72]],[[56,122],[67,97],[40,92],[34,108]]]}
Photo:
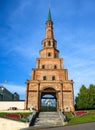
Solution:
{"label": "bright blue sky with thin white clouds behind the tower", "polygon": [[82,84],[95,84],[95,0],[0,0],[0,85],[21,99],[39,57],[49,5],[74,95]]}

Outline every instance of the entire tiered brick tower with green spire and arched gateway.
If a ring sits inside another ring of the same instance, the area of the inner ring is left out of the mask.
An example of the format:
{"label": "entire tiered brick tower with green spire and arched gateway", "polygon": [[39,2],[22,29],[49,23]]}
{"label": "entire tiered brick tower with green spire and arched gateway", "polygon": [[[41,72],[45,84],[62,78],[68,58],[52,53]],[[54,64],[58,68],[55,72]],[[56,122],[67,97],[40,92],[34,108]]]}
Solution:
{"label": "entire tiered brick tower with green spire and arched gateway", "polygon": [[32,69],[32,79],[26,82],[26,109],[34,106],[39,111],[74,111],[73,81],[68,80],[68,70],[64,69],[56,45],[49,10],[40,58]]}

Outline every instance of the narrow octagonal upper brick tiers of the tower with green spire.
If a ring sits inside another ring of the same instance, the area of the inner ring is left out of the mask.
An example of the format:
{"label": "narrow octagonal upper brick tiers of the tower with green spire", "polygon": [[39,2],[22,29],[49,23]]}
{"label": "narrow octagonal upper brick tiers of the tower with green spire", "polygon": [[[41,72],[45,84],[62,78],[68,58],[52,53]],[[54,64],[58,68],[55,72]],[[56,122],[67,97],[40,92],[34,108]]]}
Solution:
{"label": "narrow octagonal upper brick tiers of the tower with green spire", "polygon": [[58,58],[59,51],[56,49],[56,40],[53,33],[53,22],[49,9],[48,19],[46,21],[45,39],[42,41],[42,50],[40,51],[41,58]]}

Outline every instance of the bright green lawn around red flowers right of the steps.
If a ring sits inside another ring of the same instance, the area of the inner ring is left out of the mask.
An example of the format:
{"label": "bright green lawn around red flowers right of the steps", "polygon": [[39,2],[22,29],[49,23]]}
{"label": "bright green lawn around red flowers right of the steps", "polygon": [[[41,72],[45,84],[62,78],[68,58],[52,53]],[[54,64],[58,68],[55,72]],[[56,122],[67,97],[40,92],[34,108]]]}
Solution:
{"label": "bright green lawn around red flowers right of the steps", "polygon": [[88,122],[95,122],[95,110],[88,110],[88,114],[83,116],[72,116],[71,114],[66,114],[68,119],[67,125],[73,125],[73,124],[82,124],[82,123],[88,123]]}

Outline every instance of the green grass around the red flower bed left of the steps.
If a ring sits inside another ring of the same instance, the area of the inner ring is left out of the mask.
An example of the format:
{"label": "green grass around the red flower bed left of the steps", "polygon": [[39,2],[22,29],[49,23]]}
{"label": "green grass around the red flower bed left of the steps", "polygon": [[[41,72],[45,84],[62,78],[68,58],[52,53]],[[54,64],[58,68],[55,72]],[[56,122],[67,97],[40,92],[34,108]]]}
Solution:
{"label": "green grass around the red flower bed left of the steps", "polygon": [[10,112],[0,112],[0,117],[6,118],[6,119],[12,119],[12,120],[16,120],[16,121],[20,121],[20,122],[26,122],[28,119],[28,116],[30,114],[32,114],[31,112],[11,112],[11,114],[17,114],[17,115],[21,115],[21,119],[15,119],[15,118],[8,118],[6,117],[7,114],[9,114]]}

